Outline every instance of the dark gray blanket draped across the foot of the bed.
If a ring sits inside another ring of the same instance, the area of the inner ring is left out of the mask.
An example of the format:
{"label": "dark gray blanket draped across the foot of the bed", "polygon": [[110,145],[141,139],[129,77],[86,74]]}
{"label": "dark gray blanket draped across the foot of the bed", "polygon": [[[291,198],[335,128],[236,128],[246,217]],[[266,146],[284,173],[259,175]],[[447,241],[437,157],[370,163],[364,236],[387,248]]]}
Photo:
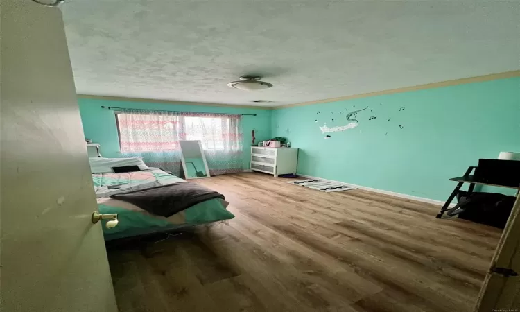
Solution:
{"label": "dark gray blanket draped across the foot of the bed", "polygon": [[168,184],[161,187],[114,194],[110,197],[130,202],[130,204],[136,205],[150,212],[150,214],[164,217],[177,214],[177,212],[197,205],[199,202],[213,198],[225,199],[222,194],[191,182]]}

